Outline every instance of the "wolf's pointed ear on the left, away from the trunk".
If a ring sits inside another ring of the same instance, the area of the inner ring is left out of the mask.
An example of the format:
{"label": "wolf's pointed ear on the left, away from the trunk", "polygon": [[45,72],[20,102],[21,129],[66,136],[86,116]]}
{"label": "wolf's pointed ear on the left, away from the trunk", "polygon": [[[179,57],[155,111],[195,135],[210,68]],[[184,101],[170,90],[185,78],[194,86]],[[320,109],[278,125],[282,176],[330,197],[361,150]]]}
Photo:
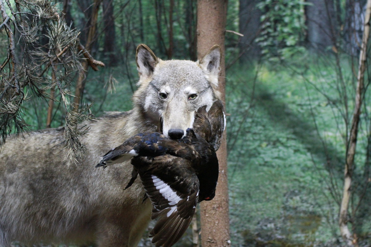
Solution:
{"label": "wolf's pointed ear on the left, away from the trunk", "polygon": [[158,58],[153,51],[145,44],[140,44],[137,47],[136,59],[139,76],[145,78],[151,76],[158,63]]}

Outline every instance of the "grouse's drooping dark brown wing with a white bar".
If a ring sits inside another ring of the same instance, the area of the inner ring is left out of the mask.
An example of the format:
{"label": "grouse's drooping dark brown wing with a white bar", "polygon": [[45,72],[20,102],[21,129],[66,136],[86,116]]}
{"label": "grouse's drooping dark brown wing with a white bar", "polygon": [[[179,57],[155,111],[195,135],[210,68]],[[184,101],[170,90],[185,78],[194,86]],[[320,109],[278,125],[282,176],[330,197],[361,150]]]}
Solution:
{"label": "grouse's drooping dark brown wing with a white bar", "polygon": [[[165,154],[135,157],[134,163],[149,164],[138,169],[145,191],[152,202],[152,219],[158,218],[150,232],[155,246],[170,247],[187,230],[196,210],[199,182],[191,161]],[[132,162],[133,162],[132,161]]]}

